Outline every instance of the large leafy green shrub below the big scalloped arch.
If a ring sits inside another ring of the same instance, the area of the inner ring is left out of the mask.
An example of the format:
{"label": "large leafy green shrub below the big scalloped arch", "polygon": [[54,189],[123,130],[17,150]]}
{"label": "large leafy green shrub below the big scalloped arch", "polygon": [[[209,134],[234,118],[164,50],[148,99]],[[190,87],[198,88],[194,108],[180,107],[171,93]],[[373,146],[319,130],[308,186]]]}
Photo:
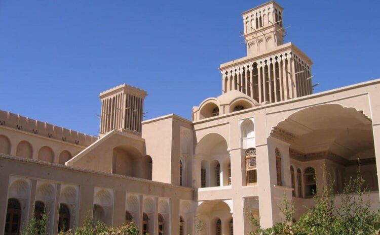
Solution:
{"label": "large leafy green shrub below the big scalloped arch", "polygon": [[[363,190],[360,171],[355,179],[349,178],[340,195],[334,194],[333,183],[329,180],[323,185],[321,192],[314,195],[315,205],[297,222],[292,222],[294,206],[285,195],[279,207],[286,219],[271,228],[261,228],[253,214],[245,212],[251,224],[258,228],[250,235],[379,235],[380,210],[370,211],[369,191]],[[337,198],[340,206],[335,206]]]}

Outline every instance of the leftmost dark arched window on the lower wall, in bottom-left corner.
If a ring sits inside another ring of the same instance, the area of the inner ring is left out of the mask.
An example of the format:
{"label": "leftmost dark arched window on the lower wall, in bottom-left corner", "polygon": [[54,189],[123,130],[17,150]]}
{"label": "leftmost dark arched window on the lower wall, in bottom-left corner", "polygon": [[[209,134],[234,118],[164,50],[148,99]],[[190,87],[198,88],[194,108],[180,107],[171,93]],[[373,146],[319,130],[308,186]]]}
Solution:
{"label": "leftmost dark arched window on the lower wall, in bottom-left corner", "polygon": [[7,217],[5,220],[4,235],[17,235],[20,230],[21,206],[14,199],[8,199]]}

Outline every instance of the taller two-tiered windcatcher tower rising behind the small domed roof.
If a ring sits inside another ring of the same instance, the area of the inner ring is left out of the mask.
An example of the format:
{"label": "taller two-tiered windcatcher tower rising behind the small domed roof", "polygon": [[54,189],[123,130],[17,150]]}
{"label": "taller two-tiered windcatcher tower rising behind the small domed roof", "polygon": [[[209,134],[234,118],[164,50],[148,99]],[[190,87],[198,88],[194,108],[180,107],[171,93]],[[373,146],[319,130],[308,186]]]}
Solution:
{"label": "taller two-tiered windcatcher tower rising behind the small domed roof", "polygon": [[261,104],[310,95],[313,63],[291,42],[283,44],[283,8],[271,1],[242,16],[247,56],[220,65],[222,92],[239,90]]}

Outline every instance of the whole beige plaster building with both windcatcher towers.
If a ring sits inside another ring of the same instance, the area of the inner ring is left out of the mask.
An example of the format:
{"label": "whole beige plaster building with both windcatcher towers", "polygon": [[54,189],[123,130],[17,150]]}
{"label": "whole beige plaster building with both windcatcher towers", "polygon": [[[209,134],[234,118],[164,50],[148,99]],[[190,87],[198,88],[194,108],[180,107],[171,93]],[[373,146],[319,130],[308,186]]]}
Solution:
{"label": "whole beige plaster building with both windcatcher towers", "polygon": [[126,84],[100,93],[99,137],[0,111],[1,234],[44,209],[51,234],[87,214],[154,235],[246,234],[245,210],[270,227],[285,194],[297,220],[315,177],[340,193],[358,156],[377,209],[380,79],[313,94],[312,61],[283,44],[282,7],[242,15],[247,56],[220,65],[222,94],[192,121],[142,121],[146,92]]}

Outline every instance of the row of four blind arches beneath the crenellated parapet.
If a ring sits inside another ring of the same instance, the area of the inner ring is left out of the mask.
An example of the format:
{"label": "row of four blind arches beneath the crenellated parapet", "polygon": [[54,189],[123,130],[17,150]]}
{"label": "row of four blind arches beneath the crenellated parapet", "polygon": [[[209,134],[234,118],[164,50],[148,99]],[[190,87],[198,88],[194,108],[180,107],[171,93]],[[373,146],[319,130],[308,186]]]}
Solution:
{"label": "row of four blind arches beneath the crenellated parapet", "polygon": [[[0,153],[10,155],[11,153],[11,141],[5,135],[0,135]],[[33,158],[33,148],[32,145],[26,140],[21,140],[16,147],[16,156],[21,158]],[[48,147],[44,146],[38,150],[37,159],[44,162],[55,162],[54,151]],[[63,150],[59,154],[58,163],[65,164],[68,160],[72,158],[72,155],[69,151]]]}

